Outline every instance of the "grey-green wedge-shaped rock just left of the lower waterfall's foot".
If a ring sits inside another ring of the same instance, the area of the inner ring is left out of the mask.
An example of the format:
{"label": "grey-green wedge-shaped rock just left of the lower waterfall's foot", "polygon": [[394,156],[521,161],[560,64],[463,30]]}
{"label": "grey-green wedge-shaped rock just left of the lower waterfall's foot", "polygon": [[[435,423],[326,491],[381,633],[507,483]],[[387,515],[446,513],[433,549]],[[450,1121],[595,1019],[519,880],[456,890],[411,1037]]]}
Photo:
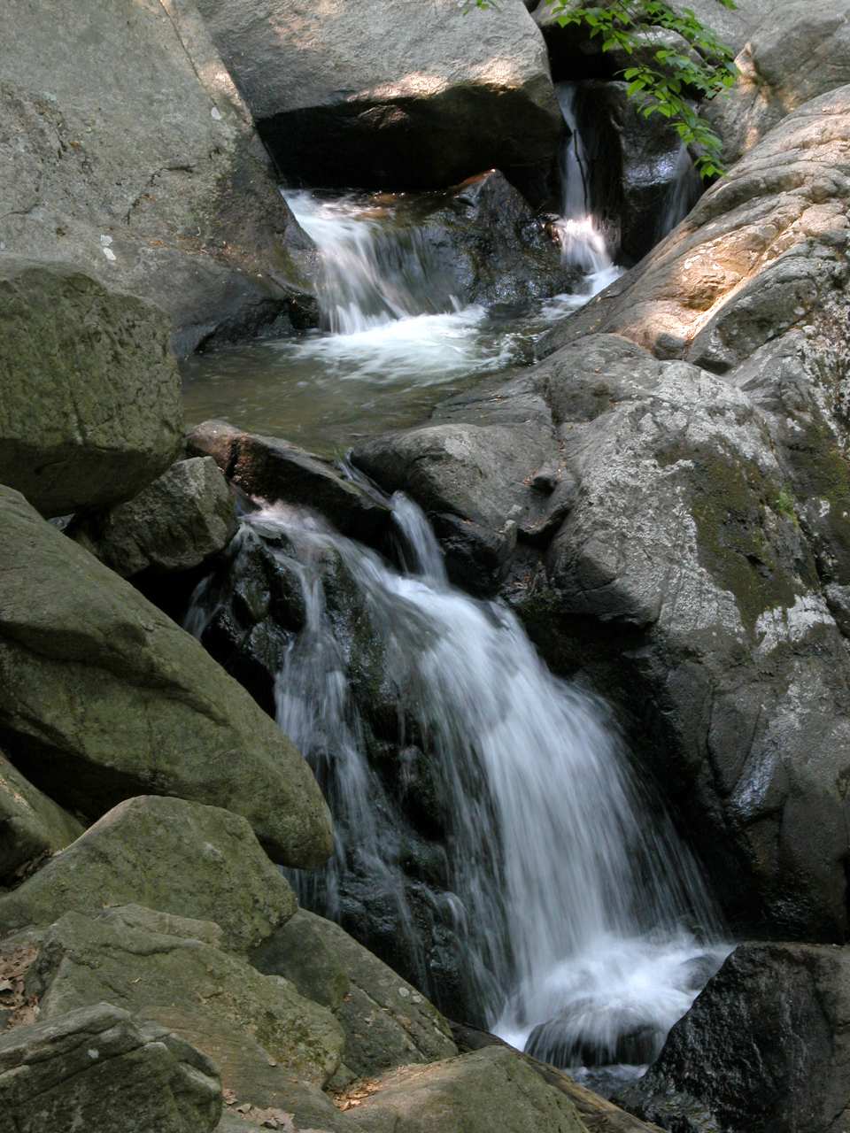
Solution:
{"label": "grey-green wedge-shaped rock just left of the lower waterfall's foot", "polygon": [[346,1065],[358,1076],[457,1053],[440,1012],[332,921],[300,909],[252,959],[303,995],[320,993],[346,1032]]}

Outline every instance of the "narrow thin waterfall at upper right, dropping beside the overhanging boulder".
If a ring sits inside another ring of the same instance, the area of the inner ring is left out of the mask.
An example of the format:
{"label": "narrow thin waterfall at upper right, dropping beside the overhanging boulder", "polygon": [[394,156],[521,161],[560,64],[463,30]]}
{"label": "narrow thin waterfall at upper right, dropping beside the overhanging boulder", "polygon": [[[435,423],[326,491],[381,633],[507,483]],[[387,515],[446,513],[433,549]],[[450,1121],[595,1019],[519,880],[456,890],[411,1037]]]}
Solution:
{"label": "narrow thin waterfall at upper right, dropping beside the overhanging boulder", "polygon": [[576,84],[558,83],[555,93],[567,127],[560,157],[561,216],[555,227],[564,263],[575,265],[587,275],[581,289],[581,301],[587,303],[622,272],[614,265],[605,235],[593,214],[592,170],[578,128]]}

